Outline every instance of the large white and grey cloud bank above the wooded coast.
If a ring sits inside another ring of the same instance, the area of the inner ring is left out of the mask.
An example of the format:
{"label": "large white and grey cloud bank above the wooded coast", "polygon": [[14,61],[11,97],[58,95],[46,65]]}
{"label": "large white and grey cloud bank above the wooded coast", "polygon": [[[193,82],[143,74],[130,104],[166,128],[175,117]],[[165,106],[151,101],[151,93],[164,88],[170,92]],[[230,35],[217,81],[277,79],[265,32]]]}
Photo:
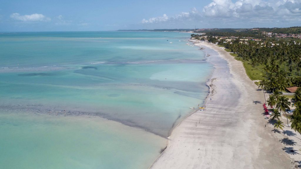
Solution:
{"label": "large white and grey cloud bank above the wooded coast", "polygon": [[[300,23],[301,0],[212,0],[201,11],[193,8],[190,12],[182,12],[173,17],[166,14],[163,17],[143,19],[143,24],[176,23],[186,21],[211,24],[254,25],[277,24],[277,23]],[[237,27],[237,26],[235,26]],[[238,26],[239,27],[239,26]]]}

